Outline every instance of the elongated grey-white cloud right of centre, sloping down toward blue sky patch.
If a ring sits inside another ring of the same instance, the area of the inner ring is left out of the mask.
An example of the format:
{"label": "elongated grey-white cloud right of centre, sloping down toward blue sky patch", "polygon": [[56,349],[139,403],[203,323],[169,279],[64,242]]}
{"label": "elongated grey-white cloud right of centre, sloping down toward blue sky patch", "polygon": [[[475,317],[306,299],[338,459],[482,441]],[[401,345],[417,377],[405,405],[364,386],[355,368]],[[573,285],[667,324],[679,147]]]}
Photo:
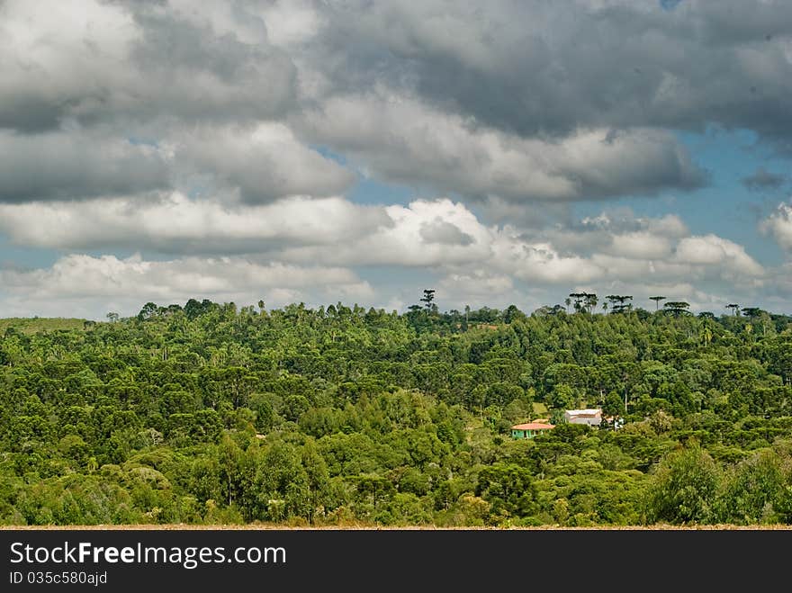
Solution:
{"label": "elongated grey-white cloud right of centre, sloping down toward blue sky patch", "polygon": [[707,182],[687,151],[658,130],[577,130],[522,139],[401,96],[334,97],[303,113],[302,130],[392,182],[508,201],[581,200]]}

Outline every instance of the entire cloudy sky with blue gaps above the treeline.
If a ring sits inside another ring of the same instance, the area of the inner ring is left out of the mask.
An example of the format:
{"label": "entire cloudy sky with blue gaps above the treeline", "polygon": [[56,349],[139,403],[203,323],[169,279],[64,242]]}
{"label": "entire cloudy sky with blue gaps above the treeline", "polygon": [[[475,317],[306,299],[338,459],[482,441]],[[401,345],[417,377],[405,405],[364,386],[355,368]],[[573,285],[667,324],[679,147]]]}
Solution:
{"label": "entire cloudy sky with blue gaps above the treeline", "polygon": [[788,0],[0,0],[0,317],[792,313]]}

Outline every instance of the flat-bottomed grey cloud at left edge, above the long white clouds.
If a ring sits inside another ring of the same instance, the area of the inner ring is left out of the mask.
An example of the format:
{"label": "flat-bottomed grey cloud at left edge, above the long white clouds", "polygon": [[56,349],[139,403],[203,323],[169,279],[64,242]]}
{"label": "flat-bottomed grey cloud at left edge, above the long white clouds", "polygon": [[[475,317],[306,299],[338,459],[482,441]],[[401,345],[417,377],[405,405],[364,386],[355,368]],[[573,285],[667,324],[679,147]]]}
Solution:
{"label": "flat-bottomed grey cloud at left edge, above the long white clouds", "polygon": [[83,200],[170,186],[157,150],[82,132],[0,131],[0,202]]}

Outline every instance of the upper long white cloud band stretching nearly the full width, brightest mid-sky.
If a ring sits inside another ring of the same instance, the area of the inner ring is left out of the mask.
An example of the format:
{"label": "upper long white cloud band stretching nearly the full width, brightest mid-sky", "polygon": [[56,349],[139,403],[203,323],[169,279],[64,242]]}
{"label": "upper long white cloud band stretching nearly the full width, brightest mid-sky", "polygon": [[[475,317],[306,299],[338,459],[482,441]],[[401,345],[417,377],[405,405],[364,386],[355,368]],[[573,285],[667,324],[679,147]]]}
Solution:
{"label": "upper long white cloud band stretching nearly the full width, brightest mid-sky", "polygon": [[[461,202],[362,206],[343,198],[291,198],[263,206],[188,200],[111,200],[0,206],[0,230],[22,245],[131,247],[166,253],[249,253],[293,265],[428,268],[526,283],[761,282],[744,247],[693,236],[675,217],[602,214],[570,228],[485,225]],[[582,229],[582,230],[581,230]],[[637,229],[637,230],[636,230]]]}

